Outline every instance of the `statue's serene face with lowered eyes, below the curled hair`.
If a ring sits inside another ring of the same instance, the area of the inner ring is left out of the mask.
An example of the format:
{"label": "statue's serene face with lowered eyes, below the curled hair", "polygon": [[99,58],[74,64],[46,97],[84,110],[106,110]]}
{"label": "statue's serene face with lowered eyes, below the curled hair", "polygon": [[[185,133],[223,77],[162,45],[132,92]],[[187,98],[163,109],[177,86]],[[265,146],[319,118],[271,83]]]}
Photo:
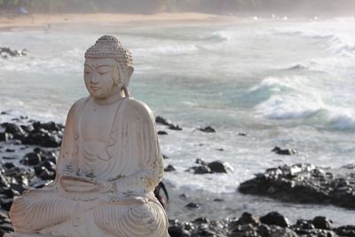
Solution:
{"label": "statue's serene face with lowered eyes, below the curled hair", "polygon": [[86,89],[92,97],[107,99],[119,93],[119,85],[115,84],[113,79],[114,71],[117,74],[116,76],[118,76],[119,82],[117,61],[114,59],[85,60],[83,77]]}

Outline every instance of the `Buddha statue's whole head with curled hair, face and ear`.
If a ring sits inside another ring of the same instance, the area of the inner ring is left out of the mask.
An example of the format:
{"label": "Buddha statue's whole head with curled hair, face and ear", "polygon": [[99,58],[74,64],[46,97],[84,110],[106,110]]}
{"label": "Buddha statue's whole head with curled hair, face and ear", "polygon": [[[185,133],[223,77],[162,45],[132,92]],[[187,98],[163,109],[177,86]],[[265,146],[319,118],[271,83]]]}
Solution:
{"label": "Buddha statue's whole head with curled hair, face and ear", "polygon": [[99,99],[124,91],[133,74],[130,51],[114,36],[101,36],[85,52],[84,81],[91,96]]}

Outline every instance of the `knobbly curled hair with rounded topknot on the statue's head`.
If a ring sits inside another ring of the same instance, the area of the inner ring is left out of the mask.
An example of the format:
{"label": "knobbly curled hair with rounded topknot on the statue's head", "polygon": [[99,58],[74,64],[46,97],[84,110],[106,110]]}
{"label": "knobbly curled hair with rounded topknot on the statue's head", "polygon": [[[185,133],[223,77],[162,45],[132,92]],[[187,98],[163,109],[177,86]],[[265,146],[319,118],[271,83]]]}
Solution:
{"label": "knobbly curled hair with rounded topknot on the statue's head", "polygon": [[101,36],[85,52],[85,59],[116,59],[127,66],[133,66],[130,51],[114,36]]}

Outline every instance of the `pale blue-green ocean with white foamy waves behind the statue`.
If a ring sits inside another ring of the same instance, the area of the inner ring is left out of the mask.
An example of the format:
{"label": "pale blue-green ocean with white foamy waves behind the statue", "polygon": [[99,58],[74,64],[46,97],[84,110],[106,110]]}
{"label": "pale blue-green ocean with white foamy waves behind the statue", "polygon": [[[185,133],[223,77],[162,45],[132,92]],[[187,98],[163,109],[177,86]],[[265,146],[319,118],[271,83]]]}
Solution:
{"label": "pale blue-green ocean with white foamy waves behind the statue", "polygon": [[[83,54],[102,35],[117,36],[135,60],[130,93],[183,130],[166,130],[162,153],[170,218],[221,219],[277,210],[292,221],[327,216],[355,223],[355,212],[238,193],[265,169],[307,162],[339,169],[355,159],[355,18],[258,19],[174,24],[52,24],[0,31],[0,46],[28,56],[0,59],[0,122],[28,115],[65,122],[87,95]],[[216,133],[199,128],[212,126]],[[240,136],[245,132],[247,136]],[[280,156],[274,146],[295,148]],[[5,154],[5,153],[4,153]],[[232,174],[186,172],[200,158],[229,162]],[[180,194],[185,194],[185,198]],[[213,201],[223,199],[224,201]],[[199,209],[186,209],[189,201]]]}

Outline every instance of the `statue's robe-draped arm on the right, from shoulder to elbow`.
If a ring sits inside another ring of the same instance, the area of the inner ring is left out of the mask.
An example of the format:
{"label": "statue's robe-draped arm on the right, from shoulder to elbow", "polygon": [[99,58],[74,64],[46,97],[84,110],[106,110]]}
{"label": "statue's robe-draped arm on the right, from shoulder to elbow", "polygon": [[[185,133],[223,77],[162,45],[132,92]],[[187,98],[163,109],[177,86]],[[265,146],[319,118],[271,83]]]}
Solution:
{"label": "statue's robe-draped arm on the right, from shoulder to elbow", "polygon": [[[154,115],[143,102],[129,99],[123,110],[123,127],[127,130],[125,146],[130,147],[124,159],[138,160],[137,172],[117,177],[116,187],[119,193],[126,191],[150,192],[162,180],[162,154],[156,132]],[[122,141],[118,141],[122,142]]]}

